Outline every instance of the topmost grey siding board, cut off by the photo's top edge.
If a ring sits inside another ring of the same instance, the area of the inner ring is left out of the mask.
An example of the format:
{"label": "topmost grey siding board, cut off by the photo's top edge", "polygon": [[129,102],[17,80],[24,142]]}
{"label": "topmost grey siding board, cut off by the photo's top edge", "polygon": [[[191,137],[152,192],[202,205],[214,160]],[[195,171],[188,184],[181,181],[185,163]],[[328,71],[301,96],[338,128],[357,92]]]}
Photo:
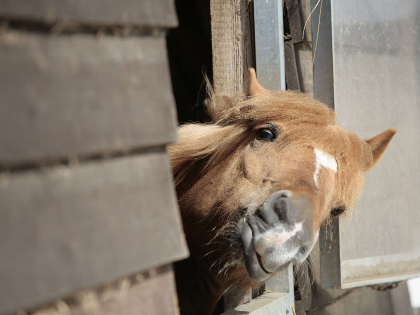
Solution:
{"label": "topmost grey siding board, cut off by the photo's top edge", "polygon": [[0,16],[47,23],[178,25],[173,0],[2,0]]}

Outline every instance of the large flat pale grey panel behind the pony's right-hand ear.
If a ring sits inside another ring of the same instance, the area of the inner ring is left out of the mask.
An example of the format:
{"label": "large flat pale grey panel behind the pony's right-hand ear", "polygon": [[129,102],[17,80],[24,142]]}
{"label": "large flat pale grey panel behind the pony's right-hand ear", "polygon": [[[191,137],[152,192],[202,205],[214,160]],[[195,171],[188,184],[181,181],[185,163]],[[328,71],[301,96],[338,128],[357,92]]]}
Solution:
{"label": "large flat pale grey panel behind the pony's right-hand ear", "polygon": [[341,288],[420,275],[419,12],[416,0],[331,0],[337,123],[364,139],[398,130],[352,220],[340,219]]}

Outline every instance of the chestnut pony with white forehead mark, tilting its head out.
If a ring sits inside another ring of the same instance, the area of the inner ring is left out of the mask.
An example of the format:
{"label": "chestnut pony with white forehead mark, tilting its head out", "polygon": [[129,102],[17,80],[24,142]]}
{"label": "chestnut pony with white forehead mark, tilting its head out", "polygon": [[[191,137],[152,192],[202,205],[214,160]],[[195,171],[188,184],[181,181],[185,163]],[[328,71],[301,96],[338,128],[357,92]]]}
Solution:
{"label": "chestnut pony with white forehead mark, tilting its head out", "polygon": [[248,72],[247,96],[211,98],[213,123],[179,127],[168,147],[191,253],[175,264],[181,314],[211,314],[228,289],[303,262],[396,132],[362,140],[323,103],[267,91]]}

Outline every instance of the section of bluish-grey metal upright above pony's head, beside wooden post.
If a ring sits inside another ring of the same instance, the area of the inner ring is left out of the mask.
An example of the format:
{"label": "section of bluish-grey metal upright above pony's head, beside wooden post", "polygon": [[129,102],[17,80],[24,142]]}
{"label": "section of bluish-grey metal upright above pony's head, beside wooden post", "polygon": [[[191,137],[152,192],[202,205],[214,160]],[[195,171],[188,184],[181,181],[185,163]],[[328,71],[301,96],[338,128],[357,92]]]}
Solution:
{"label": "section of bluish-grey metal upright above pony's head, beside wooden post", "polygon": [[266,89],[286,89],[284,71],[283,1],[255,0],[255,63]]}

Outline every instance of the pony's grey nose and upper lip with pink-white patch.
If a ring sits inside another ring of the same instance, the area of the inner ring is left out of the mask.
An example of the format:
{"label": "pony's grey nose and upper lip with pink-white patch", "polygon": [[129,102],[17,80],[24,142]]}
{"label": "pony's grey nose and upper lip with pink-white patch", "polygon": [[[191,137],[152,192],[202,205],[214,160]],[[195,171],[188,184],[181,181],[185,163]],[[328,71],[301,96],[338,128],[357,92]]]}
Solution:
{"label": "pony's grey nose and upper lip with pink-white patch", "polygon": [[316,241],[312,213],[312,202],[289,190],[272,194],[255,210],[248,224],[263,270],[275,272],[306,259]]}

